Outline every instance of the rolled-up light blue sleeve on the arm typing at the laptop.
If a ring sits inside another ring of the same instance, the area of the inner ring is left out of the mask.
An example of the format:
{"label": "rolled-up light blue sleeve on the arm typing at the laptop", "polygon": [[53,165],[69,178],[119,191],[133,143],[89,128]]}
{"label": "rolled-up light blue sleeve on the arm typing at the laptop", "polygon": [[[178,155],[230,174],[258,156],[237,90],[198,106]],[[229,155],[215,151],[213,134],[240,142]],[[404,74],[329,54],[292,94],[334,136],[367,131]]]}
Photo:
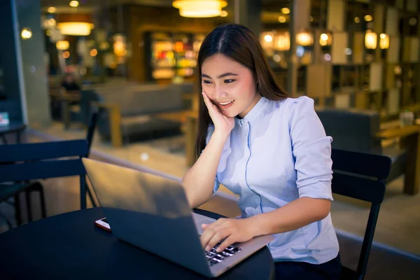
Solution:
{"label": "rolled-up light blue sleeve on the arm typing at the laptop", "polygon": [[299,197],[333,200],[332,138],[325,135],[314,110],[314,100],[309,97],[294,99],[290,113],[290,137]]}

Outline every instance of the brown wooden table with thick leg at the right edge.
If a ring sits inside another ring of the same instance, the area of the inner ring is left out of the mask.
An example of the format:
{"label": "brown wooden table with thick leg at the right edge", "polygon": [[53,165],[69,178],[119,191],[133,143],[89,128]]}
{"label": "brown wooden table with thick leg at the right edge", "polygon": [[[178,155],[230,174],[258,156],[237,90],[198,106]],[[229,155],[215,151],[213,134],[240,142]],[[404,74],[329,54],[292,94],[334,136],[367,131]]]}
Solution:
{"label": "brown wooden table with thick leg at the right edge", "polygon": [[395,127],[378,132],[381,139],[393,139],[399,137],[402,148],[407,150],[405,167],[404,193],[415,195],[419,193],[420,184],[420,125],[407,127]]}

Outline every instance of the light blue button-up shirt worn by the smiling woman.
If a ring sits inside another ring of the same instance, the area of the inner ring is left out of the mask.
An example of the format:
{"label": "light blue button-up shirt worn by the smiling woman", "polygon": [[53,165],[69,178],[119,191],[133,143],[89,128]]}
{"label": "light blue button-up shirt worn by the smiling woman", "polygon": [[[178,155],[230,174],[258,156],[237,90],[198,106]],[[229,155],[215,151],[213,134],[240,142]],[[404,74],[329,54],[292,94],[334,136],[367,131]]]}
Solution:
{"label": "light blue button-up shirt worn by the smiling woman", "polygon": [[[213,125],[208,132],[207,142]],[[332,200],[331,141],[309,97],[282,101],[261,97],[245,118],[235,118],[214,192],[222,183],[239,195],[241,218],[273,211],[299,197]],[[274,261],[320,264],[339,251],[330,214],[273,237],[268,247]]]}

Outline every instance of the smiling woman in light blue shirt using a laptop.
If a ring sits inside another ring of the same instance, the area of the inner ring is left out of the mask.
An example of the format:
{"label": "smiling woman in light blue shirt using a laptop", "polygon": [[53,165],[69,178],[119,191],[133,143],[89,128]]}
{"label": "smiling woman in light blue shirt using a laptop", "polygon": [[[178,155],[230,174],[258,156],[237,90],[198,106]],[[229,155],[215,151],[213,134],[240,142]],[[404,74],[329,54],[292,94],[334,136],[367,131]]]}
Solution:
{"label": "smiling woman in light blue shirt using a laptop", "polygon": [[190,206],[220,183],[240,196],[241,217],[202,225],[218,251],[258,235],[278,279],[337,279],[339,246],[330,218],[331,137],[308,97],[279,87],[258,39],[241,25],[217,27],[198,55],[201,80],[197,162],[183,177]]}

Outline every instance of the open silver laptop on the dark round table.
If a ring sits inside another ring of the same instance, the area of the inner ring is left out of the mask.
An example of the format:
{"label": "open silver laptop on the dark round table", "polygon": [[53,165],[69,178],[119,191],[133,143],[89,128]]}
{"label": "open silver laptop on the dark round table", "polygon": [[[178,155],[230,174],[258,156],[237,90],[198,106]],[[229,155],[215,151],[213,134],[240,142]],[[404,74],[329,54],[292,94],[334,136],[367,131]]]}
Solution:
{"label": "open silver laptop on the dark round table", "polygon": [[206,252],[201,225],[216,220],[191,211],[181,183],[88,158],[83,165],[113,235],[204,276],[223,274],[273,239],[254,237]]}

